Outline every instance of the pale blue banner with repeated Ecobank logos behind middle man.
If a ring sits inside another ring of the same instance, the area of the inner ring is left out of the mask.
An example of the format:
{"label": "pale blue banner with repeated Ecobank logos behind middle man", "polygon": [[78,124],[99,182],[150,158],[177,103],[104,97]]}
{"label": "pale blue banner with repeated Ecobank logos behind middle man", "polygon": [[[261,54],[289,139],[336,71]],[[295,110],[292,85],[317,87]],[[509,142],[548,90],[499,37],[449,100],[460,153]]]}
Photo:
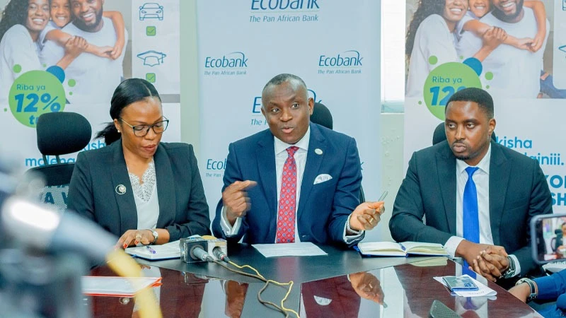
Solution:
{"label": "pale blue banner with repeated Ecobank logos behind middle man", "polygon": [[279,73],[301,77],[334,130],[356,139],[366,199],[379,199],[380,10],[379,1],[197,1],[199,163],[212,218],[229,143],[268,129],[261,93]]}

